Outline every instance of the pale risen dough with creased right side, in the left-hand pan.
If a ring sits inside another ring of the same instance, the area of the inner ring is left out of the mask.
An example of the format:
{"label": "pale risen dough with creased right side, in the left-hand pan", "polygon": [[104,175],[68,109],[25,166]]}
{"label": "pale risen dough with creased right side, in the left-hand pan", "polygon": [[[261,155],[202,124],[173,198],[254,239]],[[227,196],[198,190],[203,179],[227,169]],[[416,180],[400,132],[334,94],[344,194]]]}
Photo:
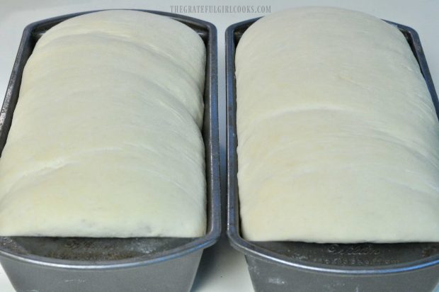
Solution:
{"label": "pale risen dough with creased right side, in the left-hand pan", "polygon": [[0,235],[205,233],[205,46],[139,11],[71,18],[38,41],[0,159]]}

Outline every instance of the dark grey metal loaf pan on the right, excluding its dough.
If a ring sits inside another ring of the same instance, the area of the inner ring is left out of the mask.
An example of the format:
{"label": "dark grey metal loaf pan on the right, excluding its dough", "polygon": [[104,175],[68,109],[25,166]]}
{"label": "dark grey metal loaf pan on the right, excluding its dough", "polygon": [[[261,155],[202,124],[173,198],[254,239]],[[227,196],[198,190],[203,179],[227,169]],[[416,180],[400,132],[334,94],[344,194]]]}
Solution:
{"label": "dark grey metal loaf pan on the right, excluding its dough", "polygon": [[[242,34],[258,18],[226,30],[227,82],[227,235],[245,254],[257,292],[430,292],[439,280],[439,243],[330,245],[305,242],[254,242],[239,226],[234,57]],[[418,34],[397,23],[418,60],[439,113],[438,96]],[[439,212],[439,210],[438,210]]]}

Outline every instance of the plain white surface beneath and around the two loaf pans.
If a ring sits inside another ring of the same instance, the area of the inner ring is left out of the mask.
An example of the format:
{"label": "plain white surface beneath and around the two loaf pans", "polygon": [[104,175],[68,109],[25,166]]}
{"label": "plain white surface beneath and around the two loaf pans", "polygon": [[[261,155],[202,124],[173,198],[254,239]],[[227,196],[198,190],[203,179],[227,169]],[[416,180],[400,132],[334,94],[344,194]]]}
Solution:
{"label": "plain white surface beneath and around the two loaf pans", "polygon": [[[411,26],[418,31],[426,53],[433,82],[439,86],[439,1],[438,0],[370,0],[370,1],[200,1],[200,0],[0,0],[0,96],[4,96],[16,57],[23,28],[33,21],[67,13],[96,9],[151,9],[171,12],[171,5],[270,5],[271,12],[294,6],[338,6],[370,13],[380,18]],[[218,74],[222,195],[225,197],[225,82],[224,31],[232,23],[261,16],[258,13],[186,13],[214,23],[218,31]],[[13,292],[0,267],[0,292]],[[193,286],[194,292],[253,291],[244,256],[229,247],[223,237],[214,247],[205,250]],[[43,291],[41,291],[43,292]],[[62,292],[62,291],[60,291]],[[122,291],[121,291],[122,292]],[[125,291],[124,291],[125,292]],[[316,291],[318,292],[318,291]],[[414,291],[415,292],[415,291]]]}

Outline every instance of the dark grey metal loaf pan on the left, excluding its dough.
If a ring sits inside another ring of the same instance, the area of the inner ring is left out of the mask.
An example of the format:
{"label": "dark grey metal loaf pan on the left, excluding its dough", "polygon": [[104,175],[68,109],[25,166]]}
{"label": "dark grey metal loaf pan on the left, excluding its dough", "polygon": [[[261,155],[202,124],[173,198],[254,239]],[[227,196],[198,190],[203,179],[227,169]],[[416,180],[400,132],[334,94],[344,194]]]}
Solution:
{"label": "dark grey metal loaf pan on the left, excluding its dough", "polygon": [[[217,115],[217,32],[215,26],[159,11],[193,28],[206,46],[203,139],[207,180],[207,232],[203,237],[0,237],[0,261],[16,291],[40,292],[188,292],[203,249],[221,231]],[[27,26],[0,114],[0,151],[6,143],[18,100],[23,67],[38,38],[49,28],[84,13],[59,16]]]}

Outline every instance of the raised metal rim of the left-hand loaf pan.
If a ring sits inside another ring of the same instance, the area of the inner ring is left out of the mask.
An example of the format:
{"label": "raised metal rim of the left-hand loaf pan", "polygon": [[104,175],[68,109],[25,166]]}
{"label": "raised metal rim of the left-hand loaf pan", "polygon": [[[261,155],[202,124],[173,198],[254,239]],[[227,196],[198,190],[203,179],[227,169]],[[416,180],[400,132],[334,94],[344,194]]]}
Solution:
{"label": "raised metal rim of the left-hand loaf pan", "polygon": [[[164,11],[155,11],[148,9],[98,9],[92,11],[81,11],[76,13],[68,13],[61,16],[55,16],[51,18],[45,18],[40,21],[35,21],[33,23],[25,26],[23,30],[23,35],[21,38],[21,43],[18,47],[18,54],[16,60],[13,64],[13,70],[11,78],[8,82],[6,88],[6,96],[4,99],[4,104],[6,104],[11,99],[11,89],[16,86],[16,66],[21,60],[21,52],[25,41],[30,38],[33,30],[45,23],[61,22],[75,16],[81,16],[83,14],[94,13],[98,11],[113,11],[113,10],[128,10],[128,11],[141,11],[146,13],[153,13],[161,16],[168,16],[173,20],[179,21],[183,24],[198,26],[205,30],[207,37],[205,40],[206,47],[206,69],[205,76],[209,76],[210,79],[205,79],[205,91],[208,90],[208,96],[210,101],[210,107],[205,108],[205,111],[209,111],[210,120],[208,121],[208,137],[204,142],[205,148],[210,149],[210,159],[206,162],[206,171],[210,169],[210,176],[206,176],[206,181],[210,183],[210,196],[207,196],[206,203],[206,215],[208,218],[208,224],[206,228],[205,235],[201,237],[186,237],[192,238],[189,242],[174,247],[172,249],[167,249],[164,252],[159,252],[157,254],[144,255],[139,257],[130,257],[127,259],[118,259],[110,261],[82,261],[82,260],[69,260],[69,259],[55,259],[52,257],[42,257],[34,254],[20,254],[13,252],[11,250],[6,250],[0,245],[0,256],[6,259],[13,259],[18,262],[23,262],[27,264],[35,264],[38,266],[47,266],[51,268],[62,268],[62,269],[76,269],[76,270],[108,270],[108,269],[127,269],[135,268],[139,266],[147,266],[149,264],[156,264],[160,262],[165,262],[171,259],[176,259],[178,257],[184,257],[188,254],[194,252],[202,251],[203,249],[210,247],[220,239],[221,235],[221,198],[220,198],[220,145],[219,145],[219,120],[218,120],[218,90],[217,90],[217,28],[214,24],[200,20],[198,18],[193,18],[190,16],[184,16],[177,13],[169,13]],[[190,26],[189,26],[190,27]],[[192,27],[190,27],[192,28]],[[194,28],[192,28],[194,30]],[[195,31],[195,30],[194,30]],[[1,108],[0,115],[0,132],[3,130],[4,123],[4,106]],[[202,132],[202,130],[200,130]],[[207,184],[208,186],[209,184]],[[13,237],[2,237],[2,238],[13,238]],[[138,237],[137,237],[138,238]],[[156,237],[157,238],[157,237]],[[178,237],[173,237],[178,238]],[[185,237],[181,237],[185,238]]]}

